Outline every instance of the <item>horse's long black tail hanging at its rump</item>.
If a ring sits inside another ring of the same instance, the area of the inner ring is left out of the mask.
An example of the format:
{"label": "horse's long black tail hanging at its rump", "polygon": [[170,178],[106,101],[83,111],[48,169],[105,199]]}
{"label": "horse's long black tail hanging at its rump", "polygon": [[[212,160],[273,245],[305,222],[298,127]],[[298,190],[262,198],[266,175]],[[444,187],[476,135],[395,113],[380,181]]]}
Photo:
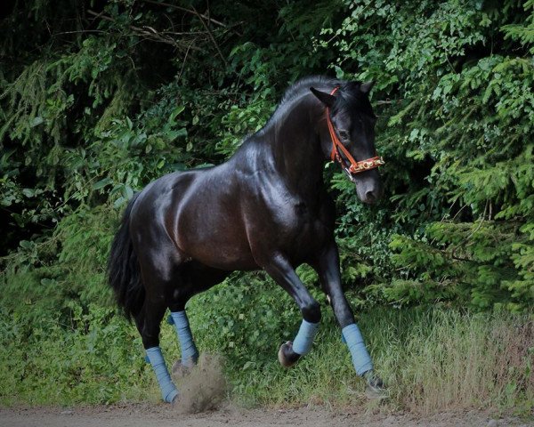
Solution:
{"label": "horse's long black tail hanging at its rump", "polygon": [[139,194],[135,194],[126,206],[120,230],[113,239],[108,260],[109,285],[115,291],[117,302],[125,310],[125,316],[128,319],[139,313],[145,298],[141,270],[130,237],[130,214]]}

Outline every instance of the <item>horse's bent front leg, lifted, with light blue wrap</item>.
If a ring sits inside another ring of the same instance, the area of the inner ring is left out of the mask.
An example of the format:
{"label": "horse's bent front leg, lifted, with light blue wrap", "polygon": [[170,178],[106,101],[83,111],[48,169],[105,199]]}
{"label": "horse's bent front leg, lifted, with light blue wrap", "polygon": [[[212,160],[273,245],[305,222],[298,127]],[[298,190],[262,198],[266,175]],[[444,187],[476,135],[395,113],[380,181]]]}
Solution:
{"label": "horse's bent front leg, lifted, with light blue wrap", "polygon": [[291,367],[301,356],[312,350],[313,338],[319,329],[320,305],[282,255],[274,256],[263,268],[293,297],[303,314],[303,321],[295,340],[282,344],[279,350],[279,362],[284,367]]}

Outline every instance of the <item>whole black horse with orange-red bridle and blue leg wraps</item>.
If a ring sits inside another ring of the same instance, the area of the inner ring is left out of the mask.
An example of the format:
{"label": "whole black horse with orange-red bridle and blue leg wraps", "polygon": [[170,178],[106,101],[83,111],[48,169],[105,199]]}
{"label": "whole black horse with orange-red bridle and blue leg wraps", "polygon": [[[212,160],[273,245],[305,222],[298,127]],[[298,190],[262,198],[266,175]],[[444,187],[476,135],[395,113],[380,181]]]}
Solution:
{"label": "whole black horse with orange-red bridle and blue leg wraps", "polygon": [[[316,302],[295,268],[317,271],[359,375],[382,383],[341,286],[334,239],[335,205],[323,166],[337,160],[358,197],[382,195],[376,166],[372,83],[307,77],[292,85],[271,119],[247,137],[223,165],[170,173],[151,182],[127,206],[109,255],[109,283],[134,317],[163,399],[178,395],[159,350],[159,327],[170,309],[182,365],[198,359],[185,303],[233,270],[265,270],[297,303],[303,322],[279,350],[289,367],[312,346],[320,322]],[[258,290],[260,292],[260,290]]]}

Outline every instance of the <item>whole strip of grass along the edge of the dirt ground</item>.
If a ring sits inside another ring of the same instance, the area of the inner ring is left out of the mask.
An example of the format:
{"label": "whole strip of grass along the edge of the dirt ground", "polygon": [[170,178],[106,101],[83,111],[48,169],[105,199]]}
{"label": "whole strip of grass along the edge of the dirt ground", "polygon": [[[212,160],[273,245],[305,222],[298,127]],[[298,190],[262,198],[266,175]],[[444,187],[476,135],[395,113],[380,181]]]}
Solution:
{"label": "whole strip of grass along the edge of the dirt ground", "polygon": [[[323,311],[312,352],[291,369],[279,366],[276,338],[260,348],[225,350],[231,399],[244,406],[376,408],[376,401],[365,398],[365,384],[353,371],[330,310]],[[110,309],[73,312],[66,326],[50,318],[28,325],[0,311],[0,404],[158,401],[134,326]],[[195,332],[194,318],[191,324]],[[382,308],[361,313],[359,324],[389,384],[390,397],[380,403],[385,410],[433,414],[474,408],[519,415],[533,410],[531,317]],[[217,330],[211,334],[224,340]],[[198,334],[201,350],[217,352],[213,336]],[[169,365],[179,356],[176,341],[172,327],[164,325]],[[260,354],[263,359],[255,360],[263,361],[247,363],[247,354]]]}

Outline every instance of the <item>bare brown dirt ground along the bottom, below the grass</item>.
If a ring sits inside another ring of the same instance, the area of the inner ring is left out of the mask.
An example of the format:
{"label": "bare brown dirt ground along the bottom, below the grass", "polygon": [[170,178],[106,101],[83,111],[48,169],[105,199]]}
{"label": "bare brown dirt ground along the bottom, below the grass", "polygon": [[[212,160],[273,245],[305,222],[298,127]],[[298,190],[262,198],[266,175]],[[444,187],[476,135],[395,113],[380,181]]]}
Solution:
{"label": "bare brown dirt ground along the bottom, below the grass", "polygon": [[325,408],[253,409],[223,407],[196,415],[180,414],[176,408],[136,404],[111,407],[18,407],[0,408],[0,427],[378,427],[378,426],[532,426],[534,421],[491,418],[476,412],[445,413],[429,417],[373,415]]}

